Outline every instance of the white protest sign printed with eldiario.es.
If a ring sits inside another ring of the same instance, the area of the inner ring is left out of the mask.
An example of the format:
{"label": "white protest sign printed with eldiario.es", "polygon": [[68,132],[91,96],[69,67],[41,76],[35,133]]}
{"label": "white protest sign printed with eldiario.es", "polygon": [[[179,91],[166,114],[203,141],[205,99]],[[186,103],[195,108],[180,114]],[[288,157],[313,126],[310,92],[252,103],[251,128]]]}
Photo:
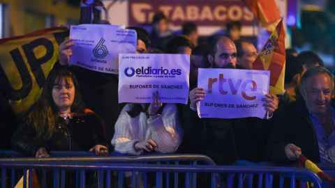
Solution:
{"label": "white protest sign printed with eldiario.es", "polygon": [[163,103],[187,104],[190,55],[119,54],[119,103],[151,103],[158,91]]}

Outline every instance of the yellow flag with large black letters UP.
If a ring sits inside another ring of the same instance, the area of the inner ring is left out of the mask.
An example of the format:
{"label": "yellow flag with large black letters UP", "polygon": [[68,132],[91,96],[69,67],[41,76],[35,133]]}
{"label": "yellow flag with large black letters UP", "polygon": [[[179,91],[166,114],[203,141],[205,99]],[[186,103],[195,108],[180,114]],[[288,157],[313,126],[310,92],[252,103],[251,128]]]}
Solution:
{"label": "yellow flag with large black letters UP", "polygon": [[40,97],[68,35],[68,29],[52,27],[0,40],[0,87],[18,118]]}

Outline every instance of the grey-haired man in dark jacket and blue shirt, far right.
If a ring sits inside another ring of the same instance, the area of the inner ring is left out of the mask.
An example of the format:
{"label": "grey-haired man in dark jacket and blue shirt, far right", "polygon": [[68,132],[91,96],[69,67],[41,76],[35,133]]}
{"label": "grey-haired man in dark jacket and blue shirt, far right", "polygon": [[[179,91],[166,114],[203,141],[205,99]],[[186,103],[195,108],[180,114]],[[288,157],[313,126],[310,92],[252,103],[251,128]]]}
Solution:
{"label": "grey-haired man in dark jacket and blue shirt, far right", "polygon": [[330,106],[334,76],[324,67],[307,70],[301,78],[304,100],[283,105],[272,119],[266,159],[277,164],[297,161],[302,152],[312,162],[335,162],[335,109]]}

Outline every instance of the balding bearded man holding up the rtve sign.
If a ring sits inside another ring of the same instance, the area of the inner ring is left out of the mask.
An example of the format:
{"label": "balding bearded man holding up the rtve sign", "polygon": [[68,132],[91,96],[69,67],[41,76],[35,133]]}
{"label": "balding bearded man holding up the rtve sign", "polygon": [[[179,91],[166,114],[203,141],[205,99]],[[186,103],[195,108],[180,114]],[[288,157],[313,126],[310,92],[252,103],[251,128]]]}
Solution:
{"label": "balding bearded man holding up the rtve sign", "polygon": [[[214,38],[207,57],[213,68],[235,69],[237,50],[234,42],[227,37]],[[220,165],[230,165],[237,159],[259,162],[269,132],[267,120],[229,118],[229,114],[228,118],[199,118],[196,110],[201,107],[197,107],[197,103],[209,97],[206,94],[204,88],[194,88],[189,94],[191,110],[185,137],[189,144],[195,146],[194,152],[208,155]],[[271,117],[277,108],[276,97],[265,94],[262,101]]]}

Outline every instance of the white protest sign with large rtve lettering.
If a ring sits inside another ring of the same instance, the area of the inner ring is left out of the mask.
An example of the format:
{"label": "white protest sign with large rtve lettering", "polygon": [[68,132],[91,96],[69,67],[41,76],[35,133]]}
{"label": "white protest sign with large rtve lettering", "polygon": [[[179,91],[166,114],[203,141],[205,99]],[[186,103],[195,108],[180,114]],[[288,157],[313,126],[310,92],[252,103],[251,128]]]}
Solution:
{"label": "white protest sign with large rtve lettering", "polygon": [[268,70],[199,68],[198,87],[206,96],[197,103],[200,118],[264,118],[262,98],[269,93]]}

